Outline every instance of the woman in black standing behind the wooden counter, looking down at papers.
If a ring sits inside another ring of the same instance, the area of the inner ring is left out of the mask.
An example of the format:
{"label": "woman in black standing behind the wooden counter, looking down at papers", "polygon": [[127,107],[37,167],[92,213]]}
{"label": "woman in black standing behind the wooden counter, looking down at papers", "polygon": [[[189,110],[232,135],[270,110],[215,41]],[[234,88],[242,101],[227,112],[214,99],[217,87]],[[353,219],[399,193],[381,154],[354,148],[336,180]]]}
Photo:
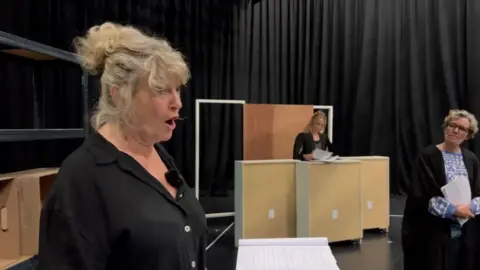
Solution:
{"label": "woman in black standing behind the wooden counter, looking down at papers", "polygon": [[312,152],[315,149],[333,150],[333,144],[325,133],[327,116],[322,111],[315,112],[305,130],[297,135],[293,146],[293,159],[310,161],[313,159]]}

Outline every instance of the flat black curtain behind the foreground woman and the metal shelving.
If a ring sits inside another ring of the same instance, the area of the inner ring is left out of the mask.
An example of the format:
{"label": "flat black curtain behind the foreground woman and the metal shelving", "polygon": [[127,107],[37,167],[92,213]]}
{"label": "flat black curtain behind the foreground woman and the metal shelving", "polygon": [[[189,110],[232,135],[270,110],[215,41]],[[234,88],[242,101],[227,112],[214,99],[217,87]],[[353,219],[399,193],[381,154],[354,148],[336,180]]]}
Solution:
{"label": "flat black curtain behind the foreground woman and the metal shelving", "polygon": [[[0,30],[68,51],[72,51],[75,36],[83,35],[89,27],[105,21],[133,24],[147,33],[168,39],[185,55],[193,79],[182,94],[184,109],[181,114],[186,120],[177,125],[174,138],[166,145],[193,186],[195,99],[235,98],[232,14],[241,4],[241,1],[226,0],[47,0],[35,5],[29,0],[7,1],[0,11]],[[9,57],[8,63],[0,67],[7,81],[7,85],[1,88],[1,128],[15,128],[20,123],[21,128],[48,127],[33,124],[33,116],[37,114],[42,119],[58,118],[56,128],[82,127],[82,119],[87,116],[81,115],[81,73],[78,67],[61,61],[39,63],[18,57]],[[45,76],[54,76],[55,80],[39,82],[30,75],[35,68],[45,73],[51,67],[56,69]],[[65,70],[72,73],[68,79]],[[98,98],[98,79],[89,78],[90,107]],[[62,84],[64,81],[68,84]],[[37,102],[35,106],[48,108],[55,115],[34,111],[36,92],[47,95],[48,104]],[[19,106],[22,108],[20,113]],[[241,108],[228,107],[201,106],[200,173],[203,190],[211,191],[212,187],[227,189],[232,181],[233,160],[242,158]],[[75,121],[69,115],[75,115]],[[2,152],[10,153],[2,157],[0,171],[59,166],[80,144],[81,140],[0,143]],[[224,181],[226,178],[228,181]]]}

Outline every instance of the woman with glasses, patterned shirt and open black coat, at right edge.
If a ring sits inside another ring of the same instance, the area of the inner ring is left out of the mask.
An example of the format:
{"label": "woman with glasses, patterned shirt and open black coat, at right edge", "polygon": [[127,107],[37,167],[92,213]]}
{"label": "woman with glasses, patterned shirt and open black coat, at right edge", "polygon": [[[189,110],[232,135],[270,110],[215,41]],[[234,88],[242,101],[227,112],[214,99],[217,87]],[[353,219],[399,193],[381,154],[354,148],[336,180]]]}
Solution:
{"label": "woman with glasses, patterned shirt and open black coat, at right edge", "polygon": [[[421,150],[414,164],[402,224],[404,269],[480,269],[477,216],[480,214],[479,161],[461,144],[478,132],[465,110],[451,110],[443,124],[444,141]],[[467,177],[472,200],[454,204],[441,188]],[[468,219],[460,225],[457,218]]]}

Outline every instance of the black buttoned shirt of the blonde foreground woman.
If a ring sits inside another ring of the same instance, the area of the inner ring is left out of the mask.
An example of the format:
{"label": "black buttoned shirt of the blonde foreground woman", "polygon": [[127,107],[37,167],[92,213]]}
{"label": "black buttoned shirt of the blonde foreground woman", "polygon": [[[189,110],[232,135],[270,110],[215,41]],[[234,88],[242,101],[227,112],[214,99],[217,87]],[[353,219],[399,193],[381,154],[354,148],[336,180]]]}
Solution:
{"label": "black buttoned shirt of the blonde foreground woman", "polygon": [[42,209],[38,269],[205,269],[205,212],[156,149],[175,199],[99,134],[63,162]]}

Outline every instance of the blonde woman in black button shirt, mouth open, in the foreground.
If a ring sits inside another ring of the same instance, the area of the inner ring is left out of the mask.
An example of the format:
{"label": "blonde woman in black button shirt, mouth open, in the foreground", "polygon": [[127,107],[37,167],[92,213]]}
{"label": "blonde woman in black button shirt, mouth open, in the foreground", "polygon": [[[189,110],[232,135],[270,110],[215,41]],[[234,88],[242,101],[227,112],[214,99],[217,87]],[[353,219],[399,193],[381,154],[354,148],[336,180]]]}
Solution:
{"label": "blonde woman in black button shirt, mouth open, in the foreground", "polygon": [[63,162],[44,202],[38,269],[205,269],[205,212],[158,144],[182,107],[182,55],[112,23],[75,45],[83,67],[101,74],[95,132]]}

